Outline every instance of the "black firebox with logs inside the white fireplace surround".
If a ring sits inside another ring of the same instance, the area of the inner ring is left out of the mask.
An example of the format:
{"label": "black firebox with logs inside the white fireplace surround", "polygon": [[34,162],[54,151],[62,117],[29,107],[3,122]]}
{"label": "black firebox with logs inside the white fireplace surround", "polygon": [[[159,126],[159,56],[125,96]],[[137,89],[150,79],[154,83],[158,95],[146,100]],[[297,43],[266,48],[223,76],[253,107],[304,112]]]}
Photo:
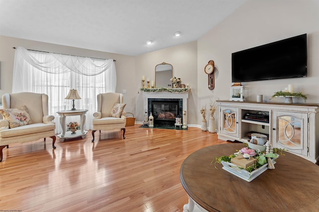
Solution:
{"label": "black firebox with logs inside the white fireplace surround", "polygon": [[182,99],[148,99],[148,113],[152,112],[154,125],[174,125],[175,118],[182,118],[182,110]]}

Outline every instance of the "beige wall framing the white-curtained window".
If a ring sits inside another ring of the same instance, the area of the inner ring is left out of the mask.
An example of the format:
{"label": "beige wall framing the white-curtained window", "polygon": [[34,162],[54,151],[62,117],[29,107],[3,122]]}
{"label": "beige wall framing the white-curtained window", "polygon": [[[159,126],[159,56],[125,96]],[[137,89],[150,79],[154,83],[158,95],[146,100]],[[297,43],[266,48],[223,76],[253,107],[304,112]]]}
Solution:
{"label": "beige wall framing the white-curtained window", "polygon": [[[111,54],[69,46],[49,44],[38,41],[24,40],[0,36],[0,96],[4,93],[12,91],[12,73],[14,62],[14,49],[12,47],[21,46],[25,49],[32,49],[45,52],[54,52],[67,55],[76,55],[101,59],[114,59],[117,71],[117,88],[116,92],[121,93],[123,89],[127,90],[124,93],[124,101],[127,103],[126,111],[135,111],[135,92],[132,87],[136,86],[135,81],[135,58],[119,54]],[[127,71],[131,74],[127,75]],[[96,101],[96,100],[94,100]]]}

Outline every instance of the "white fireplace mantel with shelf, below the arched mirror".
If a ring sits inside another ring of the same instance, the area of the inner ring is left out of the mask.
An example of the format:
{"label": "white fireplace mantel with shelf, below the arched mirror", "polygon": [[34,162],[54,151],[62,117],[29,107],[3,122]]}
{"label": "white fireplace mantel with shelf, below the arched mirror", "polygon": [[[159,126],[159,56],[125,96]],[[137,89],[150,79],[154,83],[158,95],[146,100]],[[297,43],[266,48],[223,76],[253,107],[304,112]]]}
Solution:
{"label": "white fireplace mantel with shelf, below the arched mirror", "polygon": [[[147,89],[147,91],[145,91]],[[187,112],[187,98],[190,88],[167,88],[172,91],[154,91],[158,88],[141,88],[143,92],[144,111],[148,111],[148,100],[149,99],[182,99],[183,100],[183,111]],[[181,89],[183,89],[181,91]],[[151,90],[151,91],[149,91]],[[178,90],[178,91],[177,91]],[[187,124],[187,123],[186,123]]]}

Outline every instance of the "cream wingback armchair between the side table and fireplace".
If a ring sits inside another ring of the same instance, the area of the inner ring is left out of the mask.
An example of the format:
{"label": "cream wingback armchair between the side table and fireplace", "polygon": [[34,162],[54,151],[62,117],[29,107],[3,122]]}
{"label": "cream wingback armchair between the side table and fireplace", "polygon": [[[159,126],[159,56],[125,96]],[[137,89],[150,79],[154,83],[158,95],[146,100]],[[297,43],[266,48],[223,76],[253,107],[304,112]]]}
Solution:
{"label": "cream wingback armchair between the side table and fireplace", "polygon": [[126,112],[123,104],[123,94],[121,93],[100,93],[97,95],[97,112],[93,114],[92,142],[94,133],[99,130],[123,130],[125,139]]}

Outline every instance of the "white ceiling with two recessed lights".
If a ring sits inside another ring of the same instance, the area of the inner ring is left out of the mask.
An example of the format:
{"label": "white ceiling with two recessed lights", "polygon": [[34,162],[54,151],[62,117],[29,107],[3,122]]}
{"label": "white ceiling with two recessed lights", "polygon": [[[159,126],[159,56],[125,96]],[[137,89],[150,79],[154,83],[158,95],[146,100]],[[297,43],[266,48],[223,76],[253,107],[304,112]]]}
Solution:
{"label": "white ceiling with two recessed lights", "polygon": [[245,1],[0,0],[0,35],[136,56],[198,40]]}

